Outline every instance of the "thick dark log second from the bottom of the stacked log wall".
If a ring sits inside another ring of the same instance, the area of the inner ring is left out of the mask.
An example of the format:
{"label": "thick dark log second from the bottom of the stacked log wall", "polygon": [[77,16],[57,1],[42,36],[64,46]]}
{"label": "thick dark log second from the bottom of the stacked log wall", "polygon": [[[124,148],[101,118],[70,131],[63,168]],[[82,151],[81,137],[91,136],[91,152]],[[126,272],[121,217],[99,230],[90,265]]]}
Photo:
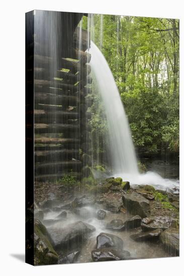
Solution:
{"label": "thick dark log second from the bottom of the stacked log wall", "polygon": [[80,161],[56,161],[49,163],[36,163],[35,174],[62,173],[64,169],[66,169],[68,172],[70,170],[72,170],[73,172],[77,172],[80,168]]}

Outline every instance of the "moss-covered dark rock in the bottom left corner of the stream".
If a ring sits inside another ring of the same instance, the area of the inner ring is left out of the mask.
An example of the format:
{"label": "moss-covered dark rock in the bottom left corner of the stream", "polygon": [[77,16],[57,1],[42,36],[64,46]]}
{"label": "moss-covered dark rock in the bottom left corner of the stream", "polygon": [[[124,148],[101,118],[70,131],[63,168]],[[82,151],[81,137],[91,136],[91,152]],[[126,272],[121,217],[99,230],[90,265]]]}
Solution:
{"label": "moss-covered dark rock in the bottom left corner of the stream", "polygon": [[56,264],[58,254],[54,250],[54,242],[45,226],[38,220],[34,223],[34,264]]}

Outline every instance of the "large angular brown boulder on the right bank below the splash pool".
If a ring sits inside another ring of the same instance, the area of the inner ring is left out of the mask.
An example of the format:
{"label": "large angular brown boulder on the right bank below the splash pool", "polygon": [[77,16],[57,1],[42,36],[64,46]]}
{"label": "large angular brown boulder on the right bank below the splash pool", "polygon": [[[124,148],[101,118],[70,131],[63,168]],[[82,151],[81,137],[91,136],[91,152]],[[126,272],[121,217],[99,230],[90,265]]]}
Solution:
{"label": "large angular brown boulder on the right bank below the splash pool", "polygon": [[140,194],[133,192],[122,196],[123,203],[127,210],[133,215],[139,215],[142,218],[150,213],[149,201]]}

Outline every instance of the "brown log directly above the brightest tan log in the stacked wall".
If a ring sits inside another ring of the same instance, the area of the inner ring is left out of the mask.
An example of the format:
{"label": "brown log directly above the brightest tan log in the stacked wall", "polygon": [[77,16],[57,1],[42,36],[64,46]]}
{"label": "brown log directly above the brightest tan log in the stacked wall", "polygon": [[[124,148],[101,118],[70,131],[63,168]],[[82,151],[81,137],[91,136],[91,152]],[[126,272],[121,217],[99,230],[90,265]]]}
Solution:
{"label": "brown log directly above the brightest tan log in the stacked wall", "polygon": [[77,124],[67,124],[67,123],[35,123],[34,131],[35,133],[47,133],[54,131],[57,133],[63,130],[73,130],[76,131],[79,129]]}

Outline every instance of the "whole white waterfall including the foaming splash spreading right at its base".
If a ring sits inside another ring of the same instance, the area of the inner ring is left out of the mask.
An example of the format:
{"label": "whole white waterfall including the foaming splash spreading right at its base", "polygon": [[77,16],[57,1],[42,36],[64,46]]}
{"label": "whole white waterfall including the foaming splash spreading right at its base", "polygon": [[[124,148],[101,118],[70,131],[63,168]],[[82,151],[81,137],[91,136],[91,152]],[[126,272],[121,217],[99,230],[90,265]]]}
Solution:
{"label": "whole white waterfall including the foaming splash spreading right at its base", "polygon": [[163,179],[154,172],[140,174],[128,119],[109,65],[99,48],[91,41],[90,66],[105,106],[110,134],[114,176],[131,184],[148,184],[160,189],[178,187],[178,181]]}

